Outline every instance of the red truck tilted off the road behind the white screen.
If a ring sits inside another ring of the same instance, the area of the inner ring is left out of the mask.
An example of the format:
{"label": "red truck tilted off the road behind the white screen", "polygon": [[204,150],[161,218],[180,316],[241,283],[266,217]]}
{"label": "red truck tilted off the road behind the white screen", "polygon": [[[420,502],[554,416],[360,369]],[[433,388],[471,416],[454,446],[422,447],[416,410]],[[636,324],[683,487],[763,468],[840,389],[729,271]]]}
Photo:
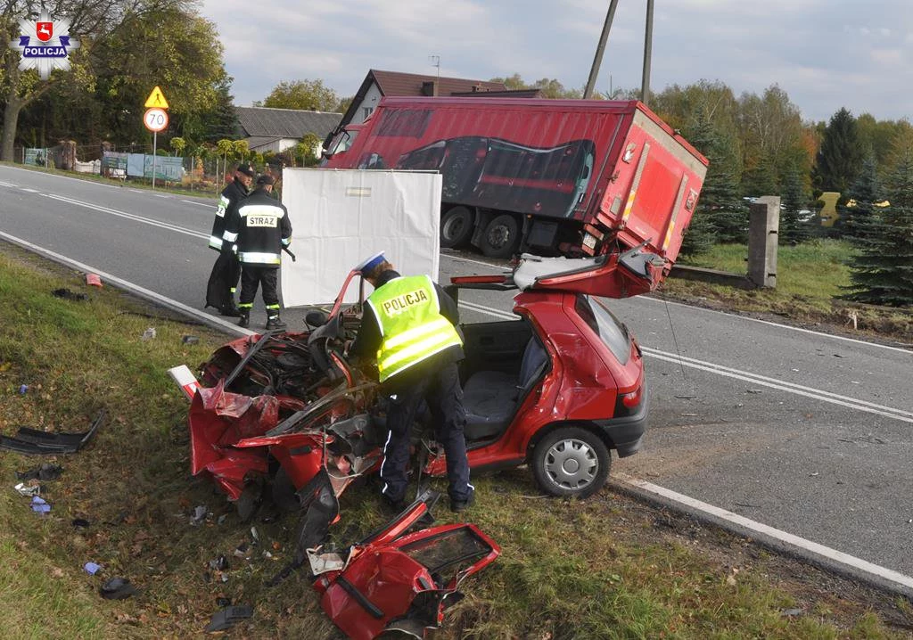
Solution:
{"label": "red truck tilted off the road behind the white screen", "polygon": [[324,166],[444,176],[441,244],[675,261],[707,160],[636,100],[384,98],[333,131]]}

